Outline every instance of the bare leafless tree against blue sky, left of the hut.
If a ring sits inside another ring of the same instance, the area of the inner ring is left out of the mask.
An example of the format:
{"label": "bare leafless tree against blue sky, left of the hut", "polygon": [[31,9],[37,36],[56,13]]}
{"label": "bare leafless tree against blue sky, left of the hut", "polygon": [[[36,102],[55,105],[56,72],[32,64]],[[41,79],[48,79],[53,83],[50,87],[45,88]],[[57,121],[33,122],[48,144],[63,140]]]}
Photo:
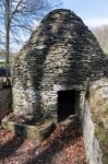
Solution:
{"label": "bare leafless tree against blue sky, left of the hut", "polygon": [[0,0],[0,40],[4,43],[8,68],[10,44],[20,44],[21,35],[28,35],[34,22],[60,3],[60,0]]}

